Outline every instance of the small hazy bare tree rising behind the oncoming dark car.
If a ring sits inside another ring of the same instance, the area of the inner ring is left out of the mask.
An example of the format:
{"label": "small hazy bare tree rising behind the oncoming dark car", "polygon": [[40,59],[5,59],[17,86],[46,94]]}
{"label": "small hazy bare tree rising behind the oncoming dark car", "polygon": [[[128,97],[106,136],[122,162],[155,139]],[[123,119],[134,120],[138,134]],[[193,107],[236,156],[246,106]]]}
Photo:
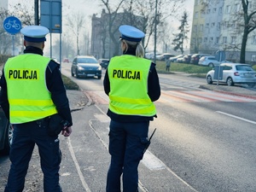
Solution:
{"label": "small hazy bare tree rising behind the oncoming dark car", "polygon": [[82,28],[84,27],[85,17],[81,12],[67,16],[67,26],[76,37],[77,55],[80,55],[79,49],[79,36]]}

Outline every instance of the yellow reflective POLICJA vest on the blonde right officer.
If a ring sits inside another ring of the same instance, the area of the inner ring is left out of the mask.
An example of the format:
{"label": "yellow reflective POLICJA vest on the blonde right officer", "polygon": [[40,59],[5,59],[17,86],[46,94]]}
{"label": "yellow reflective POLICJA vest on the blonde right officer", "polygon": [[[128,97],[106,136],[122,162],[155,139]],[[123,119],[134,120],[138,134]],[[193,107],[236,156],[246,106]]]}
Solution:
{"label": "yellow reflective POLICJA vest on the blonde right officer", "polygon": [[109,110],[124,115],[151,117],[156,114],[148,96],[151,61],[134,55],[115,56],[108,65]]}

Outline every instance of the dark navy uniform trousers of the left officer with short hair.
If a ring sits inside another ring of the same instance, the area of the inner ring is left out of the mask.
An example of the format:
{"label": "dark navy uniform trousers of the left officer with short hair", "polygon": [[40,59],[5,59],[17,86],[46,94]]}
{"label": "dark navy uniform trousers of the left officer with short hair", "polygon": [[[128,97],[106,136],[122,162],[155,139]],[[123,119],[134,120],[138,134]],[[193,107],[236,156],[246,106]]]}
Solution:
{"label": "dark navy uniform trousers of the left officer with short hair", "polygon": [[4,192],[22,192],[26,172],[35,144],[38,145],[41,169],[44,173],[44,192],[61,192],[59,170],[61,150],[58,136],[50,137],[46,126],[48,119],[14,125],[13,143],[9,154],[11,161],[8,183]]}

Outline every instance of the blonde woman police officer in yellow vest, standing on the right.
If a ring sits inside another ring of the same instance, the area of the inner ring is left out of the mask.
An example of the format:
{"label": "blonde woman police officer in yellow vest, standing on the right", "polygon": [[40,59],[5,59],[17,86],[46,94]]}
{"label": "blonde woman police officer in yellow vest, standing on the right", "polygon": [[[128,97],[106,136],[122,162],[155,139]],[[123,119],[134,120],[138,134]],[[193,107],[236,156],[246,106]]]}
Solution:
{"label": "blonde woman police officer in yellow vest, standing on the right", "polygon": [[133,26],[119,26],[123,55],[109,62],[103,81],[109,96],[110,117],[107,192],[138,190],[137,167],[148,145],[149,121],[156,117],[154,101],[160,97],[155,64],[144,59],[141,44],[145,34]]}

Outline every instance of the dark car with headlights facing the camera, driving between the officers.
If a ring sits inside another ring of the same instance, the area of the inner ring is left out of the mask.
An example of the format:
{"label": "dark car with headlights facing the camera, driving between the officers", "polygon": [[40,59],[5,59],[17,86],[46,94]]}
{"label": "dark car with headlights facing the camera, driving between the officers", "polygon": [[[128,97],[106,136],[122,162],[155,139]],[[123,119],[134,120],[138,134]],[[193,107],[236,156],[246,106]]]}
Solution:
{"label": "dark car with headlights facing the camera, driving between the officers", "polygon": [[71,75],[79,79],[80,77],[97,77],[102,79],[102,66],[94,56],[78,55],[73,59],[71,66]]}

